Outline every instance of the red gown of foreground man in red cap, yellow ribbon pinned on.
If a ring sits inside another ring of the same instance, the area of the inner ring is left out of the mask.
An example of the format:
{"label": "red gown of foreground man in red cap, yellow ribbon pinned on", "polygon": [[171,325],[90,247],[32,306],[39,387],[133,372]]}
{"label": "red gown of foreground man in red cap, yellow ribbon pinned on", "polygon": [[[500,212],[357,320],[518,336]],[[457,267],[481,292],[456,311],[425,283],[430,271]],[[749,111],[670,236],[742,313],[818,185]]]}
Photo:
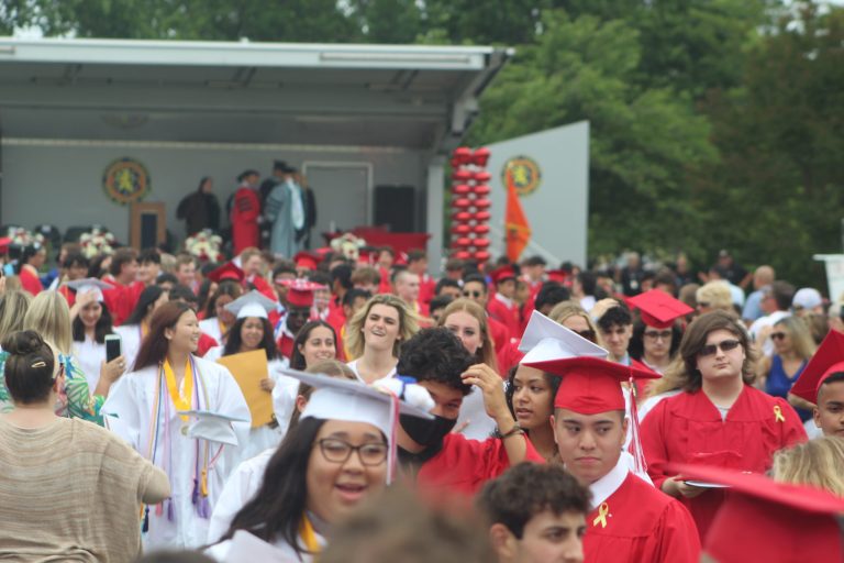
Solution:
{"label": "red gown of foreground man in red cap, yellow ribbon pinned on", "polygon": [[585,563],[698,563],[700,540],[680,503],[628,473],[587,515],[584,555]]}

